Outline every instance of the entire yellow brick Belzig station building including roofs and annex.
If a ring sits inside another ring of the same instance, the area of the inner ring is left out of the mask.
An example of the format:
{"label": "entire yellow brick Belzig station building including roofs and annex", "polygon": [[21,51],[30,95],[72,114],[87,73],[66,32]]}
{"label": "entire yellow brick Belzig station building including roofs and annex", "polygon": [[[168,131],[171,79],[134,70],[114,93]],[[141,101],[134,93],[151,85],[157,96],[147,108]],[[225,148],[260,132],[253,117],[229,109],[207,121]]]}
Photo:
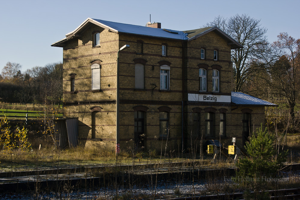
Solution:
{"label": "entire yellow brick Belzig station building including roofs and annex", "polygon": [[232,92],[231,50],[243,46],[216,26],[88,18],[65,36],[51,46],[63,48],[64,117],[78,118],[81,145],[181,151],[236,137],[241,147],[276,106]]}

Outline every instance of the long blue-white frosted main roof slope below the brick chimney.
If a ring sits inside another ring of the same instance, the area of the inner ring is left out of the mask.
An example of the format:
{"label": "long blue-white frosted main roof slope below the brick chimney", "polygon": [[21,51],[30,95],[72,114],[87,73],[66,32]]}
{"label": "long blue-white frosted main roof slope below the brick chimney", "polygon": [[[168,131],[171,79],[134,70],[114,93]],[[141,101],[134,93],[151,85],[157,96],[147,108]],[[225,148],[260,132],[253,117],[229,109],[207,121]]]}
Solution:
{"label": "long blue-white frosted main roof slope below the brick chimney", "polygon": [[117,30],[118,32],[122,33],[130,33],[130,34],[138,34],[138,35],[147,35],[147,36],[153,36],[153,37],[165,37],[165,38],[171,38],[171,39],[177,39],[177,40],[186,40],[187,34],[183,31],[175,31],[166,29],[171,32],[176,32],[178,34],[170,33],[168,31],[164,31],[161,28],[151,28],[146,26],[138,26],[138,25],[132,25],[132,24],[123,24],[118,22],[110,22],[110,21],[104,21],[101,19],[93,19],[101,24],[104,24],[110,28],[113,28]]}

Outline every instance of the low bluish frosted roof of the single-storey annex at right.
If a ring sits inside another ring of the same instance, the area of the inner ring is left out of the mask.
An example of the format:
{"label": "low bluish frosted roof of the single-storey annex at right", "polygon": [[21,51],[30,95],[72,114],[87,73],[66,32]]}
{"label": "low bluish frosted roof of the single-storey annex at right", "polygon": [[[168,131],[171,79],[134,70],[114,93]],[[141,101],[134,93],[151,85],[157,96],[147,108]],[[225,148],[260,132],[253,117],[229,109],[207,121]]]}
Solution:
{"label": "low bluish frosted roof of the single-storey annex at right", "polygon": [[231,103],[236,105],[253,105],[253,106],[277,106],[274,103],[244,94],[242,92],[231,92]]}

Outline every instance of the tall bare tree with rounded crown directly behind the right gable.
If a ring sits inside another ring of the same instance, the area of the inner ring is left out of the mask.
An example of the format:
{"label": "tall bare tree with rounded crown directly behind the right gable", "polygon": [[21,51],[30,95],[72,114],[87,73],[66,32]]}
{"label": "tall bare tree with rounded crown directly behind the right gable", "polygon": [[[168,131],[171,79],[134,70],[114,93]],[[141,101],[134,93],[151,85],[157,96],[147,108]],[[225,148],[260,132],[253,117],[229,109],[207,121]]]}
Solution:
{"label": "tall bare tree with rounded crown directly behind the right gable", "polygon": [[233,62],[235,91],[241,91],[242,85],[252,74],[250,67],[253,61],[265,58],[270,51],[267,29],[262,27],[260,20],[251,18],[246,14],[236,14],[229,18],[215,17],[214,21],[206,26],[218,26],[230,37],[238,41],[244,48],[232,49],[231,60]]}

